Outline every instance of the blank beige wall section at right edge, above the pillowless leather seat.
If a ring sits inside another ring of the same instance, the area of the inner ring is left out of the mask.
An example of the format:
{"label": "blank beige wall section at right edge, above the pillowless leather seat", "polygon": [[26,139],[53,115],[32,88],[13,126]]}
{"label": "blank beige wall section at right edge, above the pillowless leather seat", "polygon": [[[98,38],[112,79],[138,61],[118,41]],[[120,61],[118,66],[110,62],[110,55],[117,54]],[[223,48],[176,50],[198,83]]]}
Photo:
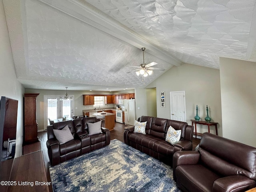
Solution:
{"label": "blank beige wall section at right edge, above the pillowless leather seat", "polygon": [[220,58],[223,136],[256,147],[256,62]]}

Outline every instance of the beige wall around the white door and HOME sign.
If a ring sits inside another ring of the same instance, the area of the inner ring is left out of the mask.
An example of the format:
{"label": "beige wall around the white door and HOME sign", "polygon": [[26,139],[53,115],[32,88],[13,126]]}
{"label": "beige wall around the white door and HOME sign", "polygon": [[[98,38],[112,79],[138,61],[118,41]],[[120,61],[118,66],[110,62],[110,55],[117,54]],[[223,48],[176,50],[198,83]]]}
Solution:
{"label": "beige wall around the white door and HOME sign", "polygon": [[[213,68],[182,64],[173,66],[162,76],[147,86],[156,87],[157,117],[170,119],[170,92],[186,92],[186,122],[191,125],[190,119],[196,116],[196,105],[201,120],[206,117],[206,105],[209,107],[209,116],[212,122],[218,122],[218,135],[222,136],[222,116],[220,97],[220,71]],[[166,107],[160,106],[160,92],[165,91]],[[198,133],[208,132],[208,127],[197,126]],[[215,134],[215,127],[210,132]]]}

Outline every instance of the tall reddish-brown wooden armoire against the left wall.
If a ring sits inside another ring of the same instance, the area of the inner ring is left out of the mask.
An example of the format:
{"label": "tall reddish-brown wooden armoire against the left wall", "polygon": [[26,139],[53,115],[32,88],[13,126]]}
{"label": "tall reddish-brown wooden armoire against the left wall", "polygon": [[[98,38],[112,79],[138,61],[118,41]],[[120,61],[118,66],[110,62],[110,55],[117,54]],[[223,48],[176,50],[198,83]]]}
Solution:
{"label": "tall reddish-brown wooden armoire against the left wall", "polygon": [[36,121],[36,97],[39,93],[24,94],[24,132],[23,144],[38,141]]}

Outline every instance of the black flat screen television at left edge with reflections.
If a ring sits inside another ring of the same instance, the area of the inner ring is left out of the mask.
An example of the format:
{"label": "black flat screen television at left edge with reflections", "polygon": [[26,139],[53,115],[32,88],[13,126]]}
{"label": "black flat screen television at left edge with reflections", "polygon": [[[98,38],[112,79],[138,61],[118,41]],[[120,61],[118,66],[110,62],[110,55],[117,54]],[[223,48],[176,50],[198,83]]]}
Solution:
{"label": "black flat screen television at left edge with reflections", "polygon": [[18,100],[0,100],[0,178],[8,180],[16,147]]}

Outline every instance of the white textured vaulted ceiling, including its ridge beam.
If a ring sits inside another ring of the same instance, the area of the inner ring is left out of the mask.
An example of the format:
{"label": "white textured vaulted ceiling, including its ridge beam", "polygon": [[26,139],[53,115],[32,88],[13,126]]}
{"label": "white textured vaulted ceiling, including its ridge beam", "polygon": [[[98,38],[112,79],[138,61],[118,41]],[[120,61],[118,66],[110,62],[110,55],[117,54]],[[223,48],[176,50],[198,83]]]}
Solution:
{"label": "white textured vaulted ceiling, including its ridge beam", "polygon": [[[4,0],[18,80],[25,88],[145,87],[143,63],[219,68],[219,57],[256,62],[255,0]],[[254,16],[254,17],[253,17]],[[19,38],[17,38],[17,36]]]}

